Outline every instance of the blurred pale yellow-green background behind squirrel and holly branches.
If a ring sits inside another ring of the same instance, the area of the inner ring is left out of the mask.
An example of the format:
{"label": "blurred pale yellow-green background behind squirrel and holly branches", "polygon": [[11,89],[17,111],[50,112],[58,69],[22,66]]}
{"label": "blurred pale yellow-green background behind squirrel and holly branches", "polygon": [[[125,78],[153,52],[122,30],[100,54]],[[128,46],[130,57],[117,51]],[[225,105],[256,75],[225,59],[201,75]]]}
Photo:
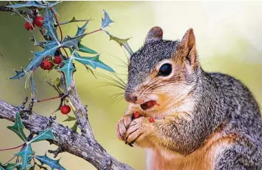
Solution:
{"label": "blurred pale yellow-green background behind squirrel and holly branches", "polygon": [[[6,2],[3,2],[6,4]],[[135,51],[144,42],[148,30],[158,25],[164,30],[164,39],[181,39],[188,28],[193,28],[197,39],[199,60],[204,70],[223,72],[243,81],[253,92],[259,104],[262,103],[262,1],[65,1],[56,7],[59,21],[89,19],[87,31],[100,28],[102,10],[109,13],[116,23],[107,28],[111,34],[122,38],[132,37],[129,43]],[[23,19],[10,16],[8,12],[0,12],[0,99],[14,105],[19,105],[25,96],[30,96],[29,90],[24,89],[23,82],[7,80],[14,74],[13,69],[26,67],[28,59],[33,55],[30,51],[41,50],[33,47],[30,32],[24,28]],[[63,25],[63,33],[74,35],[77,25]],[[35,30],[38,40],[41,36]],[[100,52],[100,59],[120,73],[122,78],[127,70],[118,58],[127,61],[127,56],[121,47],[109,41],[109,36],[97,32],[86,36],[83,44]],[[145,155],[142,149],[131,148],[116,139],[115,125],[124,113],[127,103],[124,100],[112,98],[120,93],[116,87],[102,86],[107,79],[98,76],[94,78],[83,65],[76,63],[77,72],[74,74],[78,93],[84,104],[88,105],[88,114],[94,135],[100,144],[118,160],[130,164],[134,169],[145,169]],[[99,70],[107,74],[103,70]],[[43,77],[47,72],[36,70],[37,98],[56,96],[54,90],[44,83]],[[50,77],[58,76],[51,73]],[[36,104],[34,110],[41,115],[50,116],[58,106],[58,100]],[[72,116],[72,113],[70,114]],[[66,116],[56,113],[61,122]],[[0,149],[21,144],[21,140],[6,126],[12,125],[7,120],[0,120]],[[72,123],[63,123],[72,126]],[[56,146],[48,142],[33,145],[34,151],[44,154],[47,149]],[[0,152],[0,161],[6,162],[15,151]],[[95,169],[91,164],[72,156],[61,153],[61,164],[67,169]]]}

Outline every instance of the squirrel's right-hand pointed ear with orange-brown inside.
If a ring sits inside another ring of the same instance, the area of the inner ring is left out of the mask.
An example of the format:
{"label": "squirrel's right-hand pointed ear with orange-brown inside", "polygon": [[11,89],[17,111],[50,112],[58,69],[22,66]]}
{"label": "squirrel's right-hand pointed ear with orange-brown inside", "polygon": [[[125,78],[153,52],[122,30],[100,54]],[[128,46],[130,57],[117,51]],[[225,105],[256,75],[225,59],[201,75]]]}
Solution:
{"label": "squirrel's right-hand pointed ear with orange-brown inside", "polygon": [[185,57],[190,62],[190,65],[193,65],[193,67],[197,66],[198,63],[197,50],[195,47],[195,34],[192,28],[187,30],[186,34],[184,34],[184,37],[179,46],[184,51],[184,54],[186,54]]}

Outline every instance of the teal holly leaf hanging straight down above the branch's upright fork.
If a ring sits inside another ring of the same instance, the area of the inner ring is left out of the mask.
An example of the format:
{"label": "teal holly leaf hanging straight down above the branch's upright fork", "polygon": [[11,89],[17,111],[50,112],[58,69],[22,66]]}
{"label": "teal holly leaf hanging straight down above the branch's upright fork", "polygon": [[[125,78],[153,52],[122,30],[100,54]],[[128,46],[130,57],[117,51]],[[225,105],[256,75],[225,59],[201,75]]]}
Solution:
{"label": "teal holly leaf hanging straight down above the branch's upright fork", "polygon": [[63,65],[63,67],[58,68],[58,71],[63,73],[63,76],[65,78],[65,84],[67,89],[70,87],[71,85],[71,80],[72,80],[72,76],[73,76],[73,72],[76,70],[76,68],[74,67],[74,64],[72,62],[72,57],[70,57],[69,59],[67,59],[65,61],[65,64]]}

